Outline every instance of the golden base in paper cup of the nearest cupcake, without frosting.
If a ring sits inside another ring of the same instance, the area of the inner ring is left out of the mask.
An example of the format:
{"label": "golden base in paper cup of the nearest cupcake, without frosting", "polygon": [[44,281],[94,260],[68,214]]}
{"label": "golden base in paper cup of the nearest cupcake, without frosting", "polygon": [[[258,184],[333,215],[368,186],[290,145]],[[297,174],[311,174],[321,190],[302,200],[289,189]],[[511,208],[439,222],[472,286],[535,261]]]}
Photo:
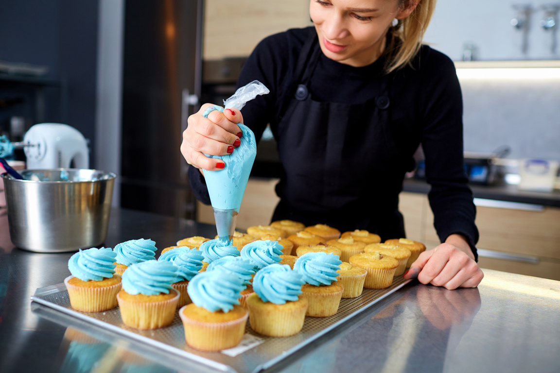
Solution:
{"label": "golden base in paper cup of the nearest cupcake, without frosting", "polygon": [[249,312],[244,317],[223,323],[202,322],[185,316],[183,306],[179,317],[185,329],[186,344],[200,351],[220,351],[237,346],[245,333]]}

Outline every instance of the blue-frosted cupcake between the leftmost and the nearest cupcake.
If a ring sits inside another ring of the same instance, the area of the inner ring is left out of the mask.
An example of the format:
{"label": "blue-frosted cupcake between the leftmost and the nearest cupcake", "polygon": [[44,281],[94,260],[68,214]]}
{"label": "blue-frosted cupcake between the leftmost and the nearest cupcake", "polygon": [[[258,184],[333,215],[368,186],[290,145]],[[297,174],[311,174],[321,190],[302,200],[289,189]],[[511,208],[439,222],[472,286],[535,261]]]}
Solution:
{"label": "blue-frosted cupcake between the leftmost and the nearest cupcake", "polygon": [[157,329],[171,324],[179,301],[177,268],[170,262],[155,260],[136,263],[123,273],[119,301],[123,323],[136,329]]}

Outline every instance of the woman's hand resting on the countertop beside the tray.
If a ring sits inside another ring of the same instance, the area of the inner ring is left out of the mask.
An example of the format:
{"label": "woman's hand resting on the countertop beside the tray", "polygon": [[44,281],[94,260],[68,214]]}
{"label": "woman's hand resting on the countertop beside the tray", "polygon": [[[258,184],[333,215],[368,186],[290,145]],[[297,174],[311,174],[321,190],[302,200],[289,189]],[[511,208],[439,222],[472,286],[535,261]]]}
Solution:
{"label": "woman's hand resting on the countertop beside the tray", "polygon": [[424,251],[404,278],[418,277],[422,284],[444,286],[446,289],[458,287],[476,287],[482,281],[484,273],[474,261],[474,254],[465,238],[452,234],[445,243]]}

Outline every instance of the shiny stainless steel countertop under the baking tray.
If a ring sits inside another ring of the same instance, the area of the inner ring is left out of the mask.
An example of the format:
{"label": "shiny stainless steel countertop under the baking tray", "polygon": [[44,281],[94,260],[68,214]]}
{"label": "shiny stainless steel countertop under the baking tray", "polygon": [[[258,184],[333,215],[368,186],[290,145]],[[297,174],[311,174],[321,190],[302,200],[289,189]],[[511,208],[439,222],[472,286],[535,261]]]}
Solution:
{"label": "shiny stainless steel countertop under the baking tray", "polygon": [[[107,247],[151,238],[162,249],[211,225],[114,209]],[[197,372],[174,356],[31,303],[68,276],[72,253],[14,248],[0,210],[0,372]],[[560,281],[484,270],[477,289],[412,282],[271,371],[558,372]]]}

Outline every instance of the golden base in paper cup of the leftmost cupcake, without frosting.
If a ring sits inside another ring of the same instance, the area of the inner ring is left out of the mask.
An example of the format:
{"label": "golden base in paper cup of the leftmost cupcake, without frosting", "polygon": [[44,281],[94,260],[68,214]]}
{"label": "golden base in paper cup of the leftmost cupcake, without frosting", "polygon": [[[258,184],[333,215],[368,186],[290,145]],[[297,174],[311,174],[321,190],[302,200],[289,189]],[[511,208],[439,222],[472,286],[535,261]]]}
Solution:
{"label": "golden base in paper cup of the leftmost cupcake, without frosting", "polygon": [[104,287],[74,286],[68,281],[74,276],[64,278],[64,285],[68,290],[70,304],[76,311],[101,312],[116,307],[116,294],[122,285],[118,284]]}

